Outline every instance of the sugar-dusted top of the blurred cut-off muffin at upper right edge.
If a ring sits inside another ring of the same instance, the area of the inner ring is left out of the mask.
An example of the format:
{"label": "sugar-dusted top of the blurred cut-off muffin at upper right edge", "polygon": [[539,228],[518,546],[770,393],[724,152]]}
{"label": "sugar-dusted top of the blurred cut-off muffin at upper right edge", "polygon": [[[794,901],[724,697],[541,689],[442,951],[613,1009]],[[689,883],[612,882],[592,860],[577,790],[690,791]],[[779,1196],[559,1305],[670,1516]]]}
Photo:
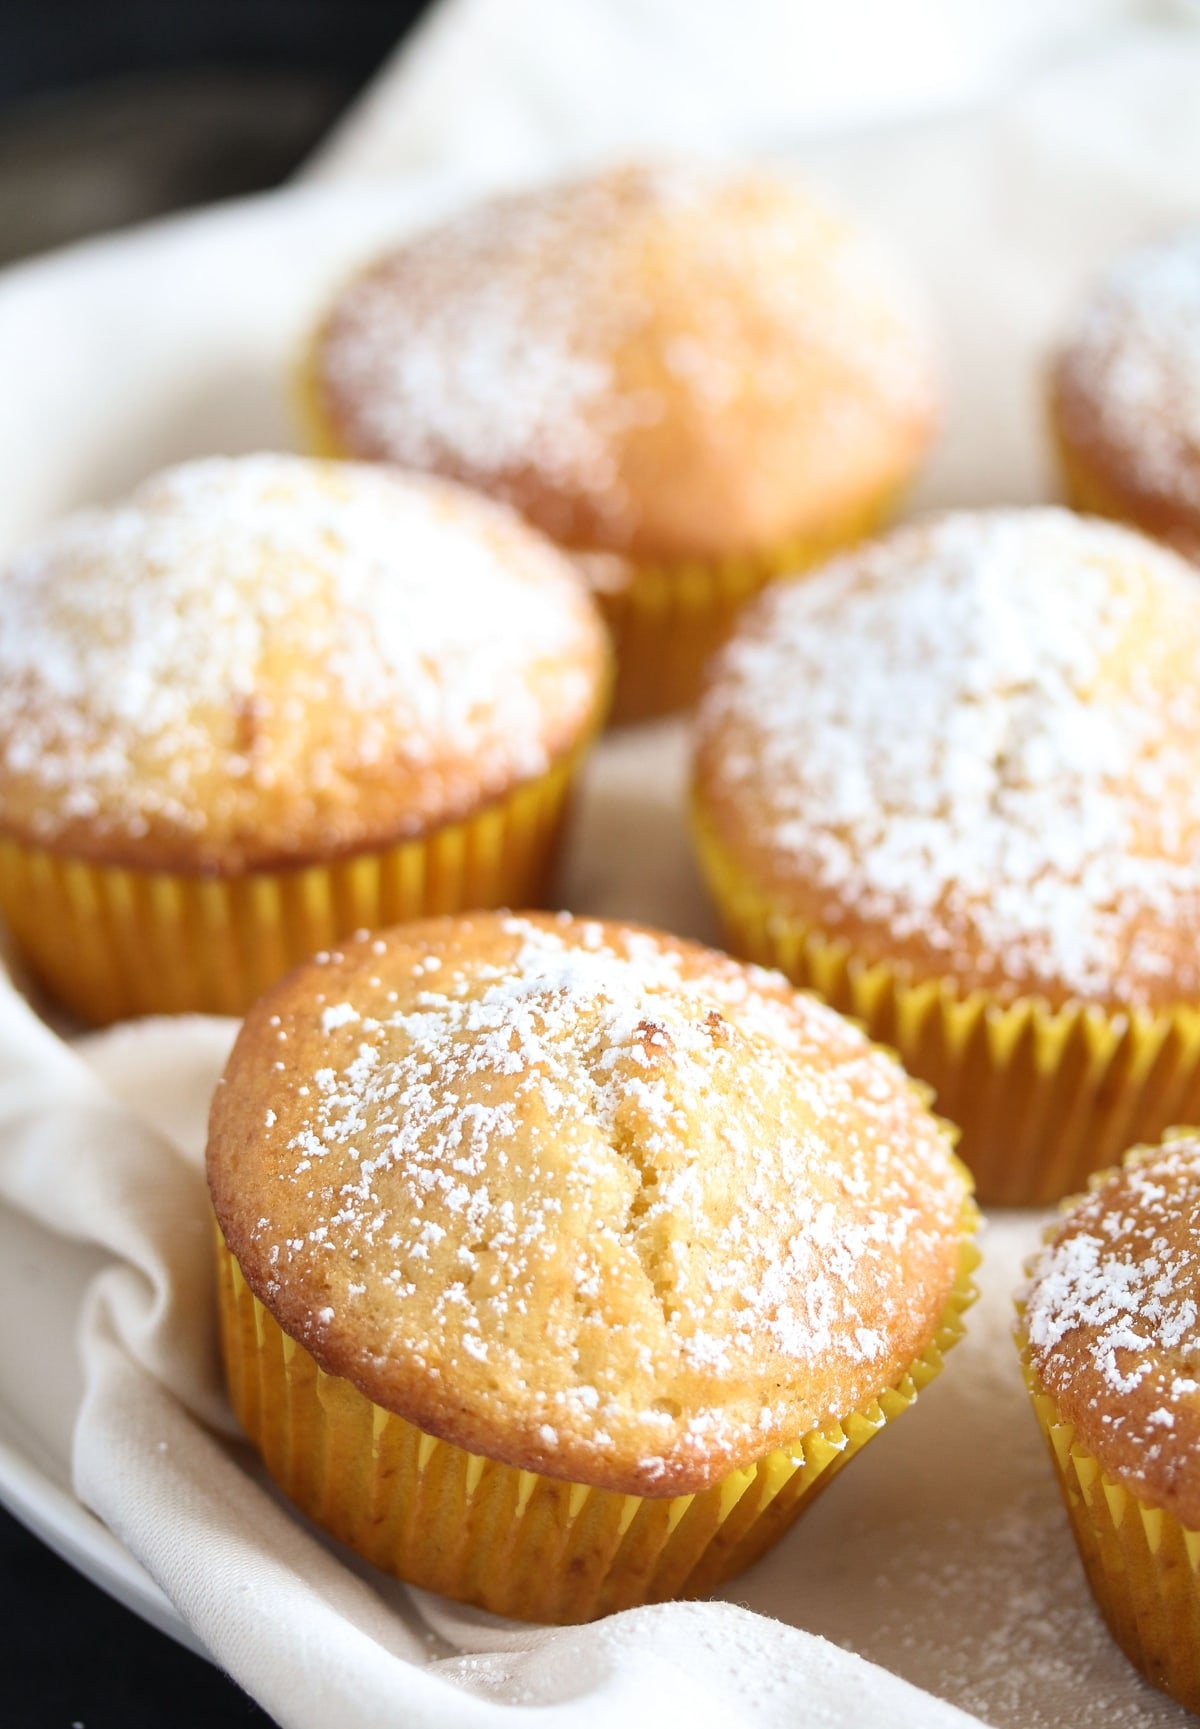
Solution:
{"label": "sugar-dusted top of the blurred cut-off muffin at upper right edge", "polygon": [[1200,230],[1117,261],[1082,308],[1058,379],[1067,412],[1086,408],[1143,491],[1200,510]]}

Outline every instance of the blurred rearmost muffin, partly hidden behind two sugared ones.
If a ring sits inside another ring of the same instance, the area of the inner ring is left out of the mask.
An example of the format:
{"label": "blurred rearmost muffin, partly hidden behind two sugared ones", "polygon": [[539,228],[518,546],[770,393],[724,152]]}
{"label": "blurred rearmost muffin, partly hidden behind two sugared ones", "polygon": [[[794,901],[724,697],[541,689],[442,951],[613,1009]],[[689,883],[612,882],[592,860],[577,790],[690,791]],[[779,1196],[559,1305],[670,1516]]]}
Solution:
{"label": "blurred rearmost muffin, partly hidden behind two sugared ones", "polygon": [[633,166],[372,263],[303,399],[322,453],[467,481],[579,555],[635,719],[693,700],[747,595],[877,524],[937,382],[908,285],[852,221],[763,169]]}

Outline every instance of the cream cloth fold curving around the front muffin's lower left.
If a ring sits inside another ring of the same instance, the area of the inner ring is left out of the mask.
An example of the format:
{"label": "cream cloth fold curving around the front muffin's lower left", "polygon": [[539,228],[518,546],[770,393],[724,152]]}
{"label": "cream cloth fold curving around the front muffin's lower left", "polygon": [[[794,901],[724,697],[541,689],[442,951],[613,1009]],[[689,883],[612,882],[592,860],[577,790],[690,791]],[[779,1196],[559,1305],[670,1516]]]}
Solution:
{"label": "cream cloth fold curving around the front muffin's lower left", "polygon": [[360,1570],[284,1506],[235,1439],[216,1361],[201,1160],[233,1030],[147,1022],[71,1050],[0,986],[0,1193],[109,1257],[80,1312],[80,1497],[268,1712],[289,1729],[401,1713],[448,1729],[598,1729],[655,1703],[702,1729],[794,1722],[801,1703],[813,1724],[851,1707],[913,1729],[970,1722],[733,1605],[512,1627]]}

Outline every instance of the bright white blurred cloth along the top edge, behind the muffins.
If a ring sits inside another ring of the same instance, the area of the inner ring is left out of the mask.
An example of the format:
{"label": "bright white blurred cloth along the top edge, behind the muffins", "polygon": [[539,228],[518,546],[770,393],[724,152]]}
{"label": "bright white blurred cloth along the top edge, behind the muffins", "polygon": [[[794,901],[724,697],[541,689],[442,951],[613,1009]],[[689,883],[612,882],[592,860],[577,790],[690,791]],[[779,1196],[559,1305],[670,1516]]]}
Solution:
{"label": "bright white blurred cloth along the top edge, behind the muffins", "polygon": [[636,149],[773,149],[994,90],[1131,0],[441,0],[313,175],[541,173]]}

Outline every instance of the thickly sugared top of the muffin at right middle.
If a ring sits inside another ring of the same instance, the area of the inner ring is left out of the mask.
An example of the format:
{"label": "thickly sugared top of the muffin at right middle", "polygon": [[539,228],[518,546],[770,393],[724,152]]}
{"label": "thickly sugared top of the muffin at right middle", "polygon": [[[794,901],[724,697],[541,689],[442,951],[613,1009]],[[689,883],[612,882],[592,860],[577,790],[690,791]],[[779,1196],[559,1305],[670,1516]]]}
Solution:
{"label": "thickly sugared top of the muffin at right middle", "polygon": [[1200,998],[1200,583],[1058,510],[778,584],[699,718],[702,820],[868,961],[1005,1001]]}

